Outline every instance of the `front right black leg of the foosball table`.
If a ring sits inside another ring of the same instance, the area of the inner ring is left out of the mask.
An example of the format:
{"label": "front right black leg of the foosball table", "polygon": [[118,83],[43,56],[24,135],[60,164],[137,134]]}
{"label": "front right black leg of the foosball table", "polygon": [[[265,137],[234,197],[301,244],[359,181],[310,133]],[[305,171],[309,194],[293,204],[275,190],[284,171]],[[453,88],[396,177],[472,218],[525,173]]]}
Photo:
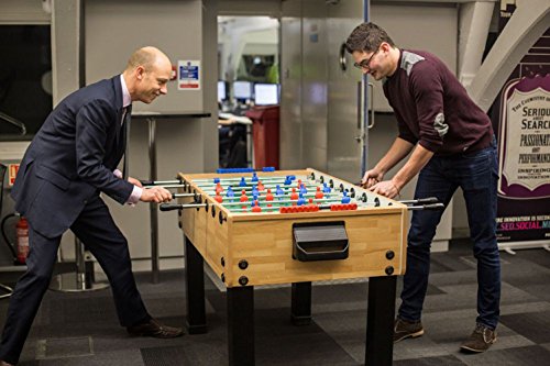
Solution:
{"label": "front right black leg of the foosball table", "polygon": [[369,279],[365,365],[392,366],[396,276]]}

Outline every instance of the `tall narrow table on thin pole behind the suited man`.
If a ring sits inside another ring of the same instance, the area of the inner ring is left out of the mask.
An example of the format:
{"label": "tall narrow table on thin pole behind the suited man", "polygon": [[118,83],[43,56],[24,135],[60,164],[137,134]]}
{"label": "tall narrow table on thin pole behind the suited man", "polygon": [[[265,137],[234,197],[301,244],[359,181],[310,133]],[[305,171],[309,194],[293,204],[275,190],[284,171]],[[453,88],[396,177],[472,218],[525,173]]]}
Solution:
{"label": "tall narrow table on thin pole behind the suited man", "polygon": [[[150,174],[148,179],[155,181],[156,177],[156,120],[157,119],[176,119],[176,118],[208,118],[211,114],[204,111],[175,111],[175,112],[133,112],[132,118],[145,119],[148,123],[148,163],[150,163]],[[130,132],[129,132],[130,134]],[[127,144],[127,153],[128,153]],[[127,167],[128,169],[128,167]],[[151,218],[151,281],[153,284],[158,282],[158,208],[157,203],[151,203],[150,206],[150,218]]]}

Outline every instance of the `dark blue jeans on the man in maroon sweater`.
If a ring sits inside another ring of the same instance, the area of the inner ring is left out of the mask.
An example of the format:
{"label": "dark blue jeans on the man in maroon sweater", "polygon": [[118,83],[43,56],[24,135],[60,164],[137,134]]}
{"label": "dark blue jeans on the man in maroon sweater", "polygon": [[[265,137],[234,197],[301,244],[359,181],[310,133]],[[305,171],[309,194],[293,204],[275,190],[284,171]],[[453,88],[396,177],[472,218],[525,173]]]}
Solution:
{"label": "dark blue jeans on the man in maroon sweater", "polygon": [[[464,192],[470,237],[477,259],[477,319],[491,329],[498,323],[501,258],[496,243],[496,142],[482,151],[433,156],[418,177],[415,197],[437,197],[447,207],[458,187]],[[430,273],[430,246],[443,210],[413,211],[408,234],[407,271],[398,317],[420,320]]]}

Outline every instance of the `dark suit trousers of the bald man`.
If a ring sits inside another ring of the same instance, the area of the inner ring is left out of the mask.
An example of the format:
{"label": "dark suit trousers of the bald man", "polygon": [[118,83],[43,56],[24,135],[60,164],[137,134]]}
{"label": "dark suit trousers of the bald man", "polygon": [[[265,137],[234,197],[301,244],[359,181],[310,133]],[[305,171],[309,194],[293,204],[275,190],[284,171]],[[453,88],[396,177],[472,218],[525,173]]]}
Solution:
{"label": "dark suit trousers of the bald man", "polygon": [[[120,324],[130,326],[150,319],[132,274],[128,242],[99,196],[89,200],[70,230],[94,254],[107,274]],[[29,236],[28,270],[19,279],[10,299],[0,343],[0,359],[11,364],[19,361],[42,298],[50,286],[61,242],[61,236],[50,239],[37,233],[32,229],[32,223]]]}

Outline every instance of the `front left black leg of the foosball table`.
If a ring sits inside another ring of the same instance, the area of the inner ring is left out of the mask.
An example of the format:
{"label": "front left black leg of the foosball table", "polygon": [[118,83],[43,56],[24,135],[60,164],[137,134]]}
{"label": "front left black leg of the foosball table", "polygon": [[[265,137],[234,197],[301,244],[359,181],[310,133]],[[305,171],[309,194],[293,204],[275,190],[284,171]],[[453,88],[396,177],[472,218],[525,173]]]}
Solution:
{"label": "front left black leg of the foosball table", "polygon": [[229,365],[254,365],[254,286],[228,287]]}

